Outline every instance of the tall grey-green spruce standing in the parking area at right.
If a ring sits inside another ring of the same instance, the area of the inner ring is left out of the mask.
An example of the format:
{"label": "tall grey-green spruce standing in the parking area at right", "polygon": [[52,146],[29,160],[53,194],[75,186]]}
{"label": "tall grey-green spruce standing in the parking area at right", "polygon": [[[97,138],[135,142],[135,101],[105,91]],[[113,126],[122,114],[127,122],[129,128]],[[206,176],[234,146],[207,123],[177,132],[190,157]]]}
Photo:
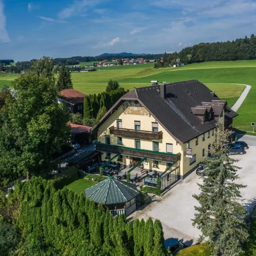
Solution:
{"label": "tall grey-green spruce standing in the parking area at right", "polygon": [[212,157],[204,160],[204,172],[200,174],[200,193],[193,195],[199,203],[193,225],[201,230],[202,239],[207,237],[212,255],[236,256],[242,253],[242,244],[248,238],[239,191],[244,186],[235,183],[239,167],[234,164],[238,160],[230,158],[224,146],[228,131],[221,122],[217,126],[216,142],[210,149]]}

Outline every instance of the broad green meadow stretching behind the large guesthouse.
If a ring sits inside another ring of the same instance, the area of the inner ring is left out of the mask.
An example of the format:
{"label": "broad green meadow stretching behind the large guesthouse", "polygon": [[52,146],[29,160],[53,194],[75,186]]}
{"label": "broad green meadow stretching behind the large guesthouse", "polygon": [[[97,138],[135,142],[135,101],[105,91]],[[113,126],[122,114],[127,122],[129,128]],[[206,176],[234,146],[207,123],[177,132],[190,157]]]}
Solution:
{"label": "broad green meadow stretching behind the large guesthouse", "polygon": [[[234,119],[234,125],[241,130],[250,131],[250,122],[256,122],[256,60],[212,61],[161,69],[154,69],[153,64],[96,68],[97,71],[94,72],[72,73],[74,89],[86,94],[100,93],[105,90],[109,79],[119,81],[122,87],[129,90],[149,86],[151,80],[176,82],[197,79],[232,106],[244,90],[244,86],[238,84],[250,84],[252,88],[238,110],[239,116]],[[16,77],[17,75],[0,74],[0,87],[3,84],[11,85]]]}

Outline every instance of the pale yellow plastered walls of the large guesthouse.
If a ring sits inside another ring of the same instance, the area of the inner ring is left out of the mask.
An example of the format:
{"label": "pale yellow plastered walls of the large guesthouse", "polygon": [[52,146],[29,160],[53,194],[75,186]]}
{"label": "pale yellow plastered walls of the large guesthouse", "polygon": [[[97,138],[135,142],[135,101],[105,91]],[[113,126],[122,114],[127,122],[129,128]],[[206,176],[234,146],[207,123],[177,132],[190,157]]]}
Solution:
{"label": "pale yellow plastered walls of the large guesthouse", "polygon": [[[135,147],[135,139],[133,138],[125,138],[122,137],[122,144],[118,144],[118,139],[116,135],[110,134],[109,128],[111,126],[117,127],[117,119],[122,120],[122,128],[134,129],[134,122],[140,121],[140,130],[143,131],[152,131],[152,122],[158,123],[153,116],[151,116],[148,111],[145,110],[142,106],[134,101],[125,101],[119,108],[114,111],[98,128],[98,142],[105,143],[105,136],[110,136],[110,144],[111,145],[120,145],[123,147],[134,148]],[[223,119],[224,117],[220,117]],[[205,134],[205,139],[203,141],[203,135],[198,137],[198,145],[196,145],[196,138],[189,142],[189,147],[192,148],[192,155],[196,154],[195,162],[191,163],[190,158],[185,157],[186,148],[188,147],[187,143],[180,143],[169,134],[159,123],[158,123],[158,131],[163,132],[162,140],[153,140],[159,143],[159,152],[166,152],[166,143],[172,144],[173,154],[180,153],[180,161],[175,163],[172,169],[180,166],[180,175],[183,177],[190,170],[195,168],[205,157],[208,155],[208,145],[215,141],[215,128],[213,129],[214,134],[212,135],[212,131]],[[152,140],[142,140],[140,139],[140,148],[145,150],[153,151],[153,141]],[[205,155],[203,156],[203,148]],[[114,154],[111,154],[114,156]],[[106,157],[106,153],[103,152],[102,159]],[[123,156],[123,163],[128,165],[130,163],[129,156]],[[159,162],[158,168],[153,167],[153,160],[147,160],[144,163],[144,168],[149,170],[157,170],[157,172],[164,172],[166,169],[166,162]]]}

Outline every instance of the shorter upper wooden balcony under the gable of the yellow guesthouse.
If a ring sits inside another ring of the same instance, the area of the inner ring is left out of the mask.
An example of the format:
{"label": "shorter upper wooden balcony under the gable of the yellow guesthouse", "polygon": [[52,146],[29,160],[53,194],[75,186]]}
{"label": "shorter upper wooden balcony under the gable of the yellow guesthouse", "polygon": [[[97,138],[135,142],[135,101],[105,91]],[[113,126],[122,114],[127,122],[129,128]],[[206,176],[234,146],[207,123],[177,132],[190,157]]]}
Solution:
{"label": "shorter upper wooden balcony under the gable of the yellow guesthouse", "polygon": [[110,134],[114,134],[120,137],[127,137],[133,139],[141,139],[141,140],[162,140],[163,132],[162,131],[142,131],[142,130],[134,130],[127,128],[116,128],[111,126],[109,128]]}

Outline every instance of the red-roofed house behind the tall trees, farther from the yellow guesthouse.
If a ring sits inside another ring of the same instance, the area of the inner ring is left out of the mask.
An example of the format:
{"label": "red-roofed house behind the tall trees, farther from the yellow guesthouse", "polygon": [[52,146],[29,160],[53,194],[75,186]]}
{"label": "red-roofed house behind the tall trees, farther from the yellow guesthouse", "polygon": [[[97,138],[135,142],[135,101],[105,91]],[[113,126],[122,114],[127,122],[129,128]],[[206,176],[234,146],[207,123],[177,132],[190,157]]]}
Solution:
{"label": "red-roofed house behind the tall trees, farther from the yellow guesthouse", "polygon": [[58,103],[63,102],[71,113],[84,113],[84,93],[73,89],[64,89],[60,91]]}

